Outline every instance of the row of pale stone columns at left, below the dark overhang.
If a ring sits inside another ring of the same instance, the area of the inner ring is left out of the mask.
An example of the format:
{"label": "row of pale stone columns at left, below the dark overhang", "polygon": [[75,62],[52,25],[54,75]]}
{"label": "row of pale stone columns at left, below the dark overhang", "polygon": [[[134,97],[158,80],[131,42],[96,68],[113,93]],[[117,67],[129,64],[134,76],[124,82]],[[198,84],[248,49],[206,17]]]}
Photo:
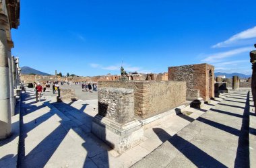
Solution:
{"label": "row of pale stone columns at left, below the dark overhang", "polygon": [[7,38],[7,28],[7,15],[0,13],[0,140],[11,134],[16,101],[14,89],[19,83],[18,61],[11,56],[13,42]]}

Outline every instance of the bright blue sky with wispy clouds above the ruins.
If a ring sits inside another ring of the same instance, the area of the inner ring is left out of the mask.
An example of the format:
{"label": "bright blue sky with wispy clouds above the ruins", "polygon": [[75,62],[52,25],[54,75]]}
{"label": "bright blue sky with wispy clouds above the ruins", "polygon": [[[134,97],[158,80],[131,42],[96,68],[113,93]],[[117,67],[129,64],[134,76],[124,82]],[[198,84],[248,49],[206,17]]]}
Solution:
{"label": "bright blue sky with wispy clouds above the ruins", "polygon": [[256,1],[21,1],[12,30],[20,66],[83,76],[162,73],[207,62],[251,73]]}

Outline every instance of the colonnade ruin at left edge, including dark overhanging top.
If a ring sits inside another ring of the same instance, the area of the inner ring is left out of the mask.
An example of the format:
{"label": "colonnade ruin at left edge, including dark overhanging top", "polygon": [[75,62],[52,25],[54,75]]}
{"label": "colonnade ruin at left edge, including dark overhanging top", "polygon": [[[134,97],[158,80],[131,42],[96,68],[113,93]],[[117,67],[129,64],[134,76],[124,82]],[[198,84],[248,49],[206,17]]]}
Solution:
{"label": "colonnade ruin at left edge, including dark overhanging top", "polygon": [[11,29],[19,25],[20,1],[0,1],[0,139],[11,134],[11,116],[15,111],[13,89],[19,83],[20,68],[18,58],[11,56]]}

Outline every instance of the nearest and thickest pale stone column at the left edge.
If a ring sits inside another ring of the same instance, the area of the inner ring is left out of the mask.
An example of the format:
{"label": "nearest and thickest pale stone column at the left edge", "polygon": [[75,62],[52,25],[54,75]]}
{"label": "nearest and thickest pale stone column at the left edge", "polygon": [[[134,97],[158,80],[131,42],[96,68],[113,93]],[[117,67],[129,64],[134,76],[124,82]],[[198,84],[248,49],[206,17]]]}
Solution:
{"label": "nearest and thickest pale stone column at the left edge", "polygon": [[0,139],[11,133],[9,66],[6,36],[7,16],[0,13]]}

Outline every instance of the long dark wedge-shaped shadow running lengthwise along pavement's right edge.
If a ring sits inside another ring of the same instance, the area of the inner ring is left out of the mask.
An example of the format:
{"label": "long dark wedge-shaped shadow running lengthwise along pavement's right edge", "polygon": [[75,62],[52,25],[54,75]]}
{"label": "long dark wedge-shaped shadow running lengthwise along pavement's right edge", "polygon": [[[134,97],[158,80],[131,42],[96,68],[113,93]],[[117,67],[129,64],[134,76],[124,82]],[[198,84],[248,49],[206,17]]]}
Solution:
{"label": "long dark wedge-shaped shadow running lengthwise along pavement's right edge", "polygon": [[245,110],[243,113],[243,120],[240,135],[238,138],[238,146],[236,152],[236,160],[234,167],[250,167],[249,157],[249,91],[247,93],[247,101],[245,103]]}

